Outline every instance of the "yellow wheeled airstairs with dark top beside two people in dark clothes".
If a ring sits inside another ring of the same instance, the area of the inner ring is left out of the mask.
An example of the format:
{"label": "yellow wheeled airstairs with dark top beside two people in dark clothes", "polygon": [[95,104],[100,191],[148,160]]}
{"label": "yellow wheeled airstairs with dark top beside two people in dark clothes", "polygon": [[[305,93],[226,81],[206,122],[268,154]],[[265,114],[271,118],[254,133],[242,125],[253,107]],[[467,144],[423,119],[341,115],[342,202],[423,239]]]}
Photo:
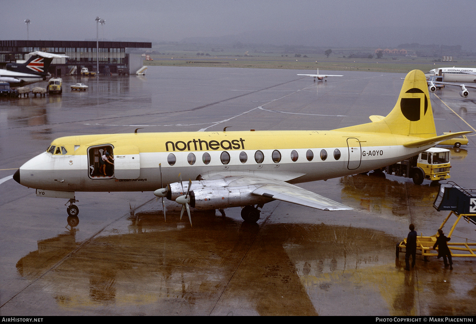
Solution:
{"label": "yellow wheeled airstairs with dark top beside two people in dark clothes", "polygon": [[[463,218],[468,223],[473,223],[476,225],[476,189],[463,189],[456,185],[456,183],[449,181],[447,184],[441,184],[438,196],[433,203],[433,206],[437,211],[441,210],[450,210],[448,216],[439,227],[440,229],[445,226],[446,222],[451,215],[455,215],[456,221],[451,226],[447,237],[451,237],[453,231],[456,228],[459,220]],[[433,245],[436,243],[436,235],[433,236],[417,236],[417,251],[421,252],[421,255],[425,257],[425,260],[428,256],[437,256],[437,249],[433,250]],[[398,257],[400,252],[405,252],[407,244],[407,239],[397,244],[396,247],[396,256]],[[450,249],[451,256],[462,256],[462,257],[476,257],[476,243],[466,242],[455,242],[454,240],[447,243],[448,248]]]}

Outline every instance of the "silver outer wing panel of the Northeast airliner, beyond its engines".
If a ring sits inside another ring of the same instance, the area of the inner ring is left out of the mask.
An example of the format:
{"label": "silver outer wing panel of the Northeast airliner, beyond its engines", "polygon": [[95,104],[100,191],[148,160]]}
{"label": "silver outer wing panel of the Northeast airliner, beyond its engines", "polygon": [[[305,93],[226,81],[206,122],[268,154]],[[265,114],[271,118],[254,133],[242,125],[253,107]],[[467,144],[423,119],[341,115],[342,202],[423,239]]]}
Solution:
{"label": "silver outer wing panel of the Northeast airliner, beyond its engines", "polygon": [[253,191],[253,194],[286,201],[320,210],[337,211],[354,209],[316,193],[288,183],[266,184]]}

